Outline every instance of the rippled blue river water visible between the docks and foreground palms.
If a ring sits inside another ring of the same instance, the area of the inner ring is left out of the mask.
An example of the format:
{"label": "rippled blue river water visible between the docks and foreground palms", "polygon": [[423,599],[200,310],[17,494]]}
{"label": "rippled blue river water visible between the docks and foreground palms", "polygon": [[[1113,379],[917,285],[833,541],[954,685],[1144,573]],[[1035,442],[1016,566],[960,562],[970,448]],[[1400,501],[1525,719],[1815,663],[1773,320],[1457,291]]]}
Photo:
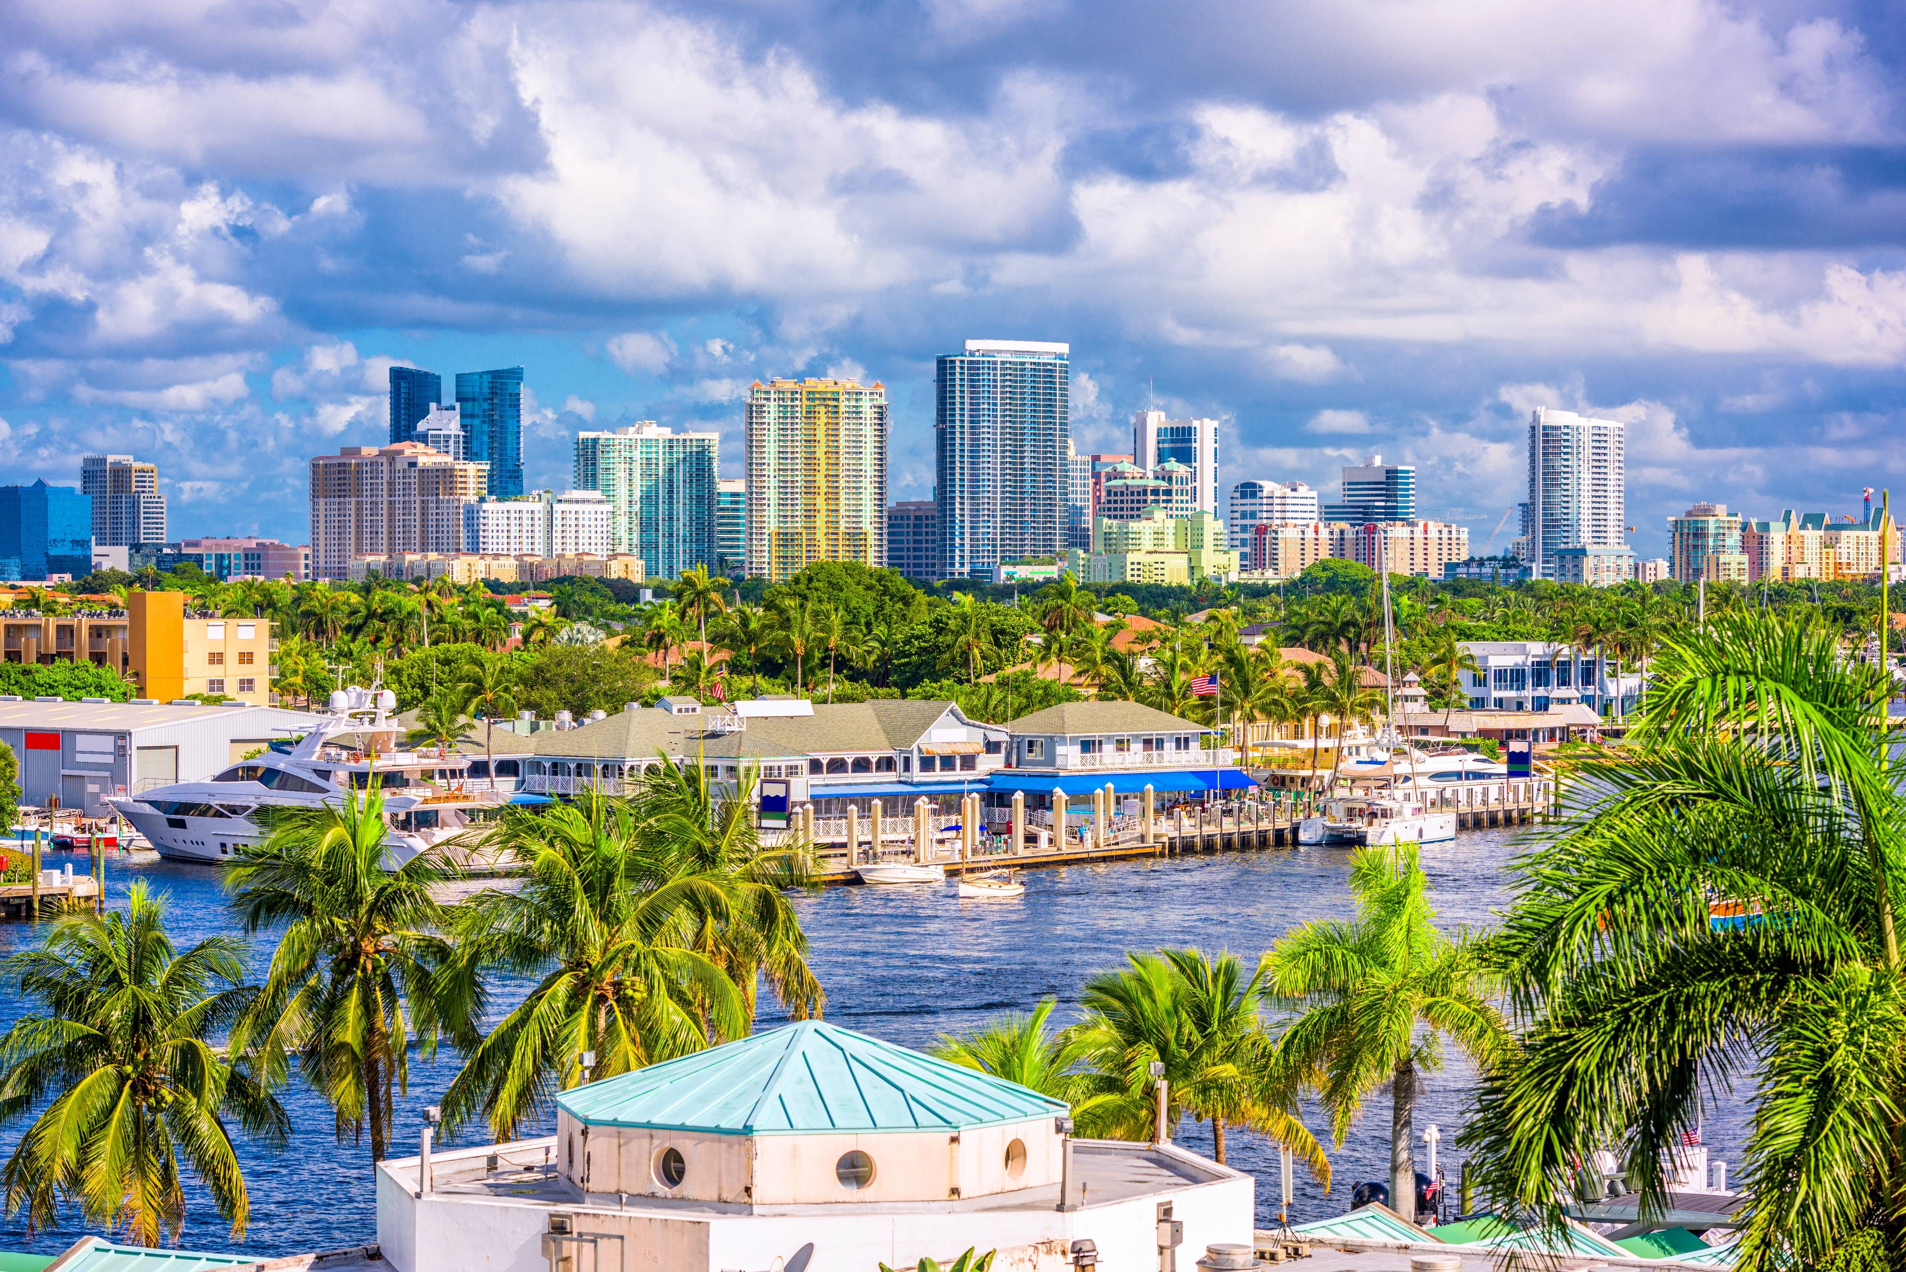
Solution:
{"label": "rippled blue river water visible between the docks and foreground palms", "polygon": [[[1517,831],[1464,833],[1454,843],[1424,851],[1439,921],[1483,927],[1510,900],[1508,860]],[[65,860],[65,858],[55,858]],[[84,858],[78,870],[84,872]],[[50,864],[53,864],[50,860]],[[170,896],[170,927],[183,946],[212,933],[234,931],[215,868],[160,862],[114,866],[109,896],[122,900],[135,879]],[[1340,849],[1266,851],[1176,860],[1107,862],[1035,870],[1018,900],[961,902],[953,889],[841,887],[797,900],[814,944],[814,969],[827,990],[827,1018],[896,1043],[923,1047],[940,1034],[961,1032],[989,1016],[1027,1009],[1041,997],[1060,1003],[1062,1018],[1077,1018],[1079,990],[1128,950],[1199,946],[1231,950],[1254,963],[1277,936],[1308,919],[1351,915],[1346,887],[1348,852]],[[0,929],[0,948],[30,940],[27,925]],[[263,971],[271,940],[253,942],[253,969]],[[522,988],[515,988],[522,994]],[[21,1003],[11,986],[0,990],[0,1028]],[[772,1007],[760,1026],[776,1022]],[[423,1108],[435,1102],[454,1074],[448,1057],[414,1060],[412,1087],[400,1098],[393,1152],[414,1154]],[[1470,1104],[1471,1074],[1460,1057],[1428,1079],[1416,1114],[1418,1133],[1435,1123],[1445,1133],[1441,1159],[1454,1190],[1462,1150],[1450,1140]],[[242,1243],[229,1238],[202,1190],[189,1194],[187,1249],[240,1249],[288,1255],[334,1249],[375,1238],[368,1146],[337,1144],[332,1114],[303,1085],[282,1095],[294,1139],[280,1154],[242,1144],[252,1192],[252,1230]],[[1311,1110],[1309,1123],[1327,1123]],[[536,1135],[549,1127],[536,1127]],[[0,1129],[0,1152],[11,1154],[21,1125]],[[1744,1140],[1738,1102],[1723,1100],[1710,1114],[1706,1139],[1715,1156],[1738,1163]],[[1180,1140],[1210,1152],[1210,1131],[1186,1121]],[[1277,1213],[1277,1152],[1266,1140],[1227,1135],[1231,1165],[1258,1177],[1258,1221]],[[1342,1146],[1330,1148],[1336,1182],[1328,1196],[1298,1171],[1292,1213],[1313,1219],[1342,1213],[1361,1180],[1386,1179],[1389,1159],[1389,1098],[1378,1093]],[[1422,1165],[1422,1146],[1418,1146]],[[78,1236],[69,1222],[59,1232],[29,1236],[19,1219],[0,1224],[0,1249],[57,1251]]]}

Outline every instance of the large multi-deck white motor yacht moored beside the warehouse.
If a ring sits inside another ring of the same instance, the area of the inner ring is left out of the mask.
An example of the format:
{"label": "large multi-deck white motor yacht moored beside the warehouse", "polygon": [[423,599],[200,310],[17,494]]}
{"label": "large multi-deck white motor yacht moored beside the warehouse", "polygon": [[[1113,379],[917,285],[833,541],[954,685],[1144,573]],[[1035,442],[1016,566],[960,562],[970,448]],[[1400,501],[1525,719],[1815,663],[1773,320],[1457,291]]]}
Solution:
{"label": "large multi-deck white motor yacht moored beside the warehouse", "polygon": [[456,751],[404,749],[391,719],[396,694],[387,688],[341,688],[330,715],[303,738],[274,742],[204,782],[173,782],[109,803],[145,835],[160,856],[223,864],[265,837],[252,814],[259,807],[320,807],[370,782],[385,793],[385,870],[398,870],[436,851],[457,866],[480,864],[463,831],[471,812],[496,809],[511,791],[469,780],[469,759]]}

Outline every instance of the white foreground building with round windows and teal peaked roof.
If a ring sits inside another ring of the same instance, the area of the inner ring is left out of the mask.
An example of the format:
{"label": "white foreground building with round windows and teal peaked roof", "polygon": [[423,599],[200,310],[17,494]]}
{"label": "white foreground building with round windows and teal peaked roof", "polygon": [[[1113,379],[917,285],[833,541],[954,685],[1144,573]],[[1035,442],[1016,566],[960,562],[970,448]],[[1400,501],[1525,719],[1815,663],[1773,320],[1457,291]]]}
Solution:
{"label": "white foreground building with round windows and teal peaked roof", "polygon": [[[427,1142],[427,1140],[425,1140]],[[377,1163],[396,1272],[1189,1266],[1252,1241],[1254,1180],[1081,1140],[1065,1104],[804,1020],[557,1097],[557,1133]],[[1172,1241],[1176,1245],[1163,1245]]]}

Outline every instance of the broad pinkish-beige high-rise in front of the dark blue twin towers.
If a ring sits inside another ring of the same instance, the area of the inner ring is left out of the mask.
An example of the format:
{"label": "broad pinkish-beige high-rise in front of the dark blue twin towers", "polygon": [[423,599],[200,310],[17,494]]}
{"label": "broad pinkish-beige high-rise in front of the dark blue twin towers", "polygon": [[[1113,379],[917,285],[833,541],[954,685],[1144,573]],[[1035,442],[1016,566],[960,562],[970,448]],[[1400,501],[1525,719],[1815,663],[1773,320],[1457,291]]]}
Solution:
{"label": "broad pinkish-beige high-rise in front of the dark blue twin towers", "polygon": [[351,578],[353,557],[463,551],[463,507],[484,465],[421,442],[345,446],[311,460],[311,574]]}

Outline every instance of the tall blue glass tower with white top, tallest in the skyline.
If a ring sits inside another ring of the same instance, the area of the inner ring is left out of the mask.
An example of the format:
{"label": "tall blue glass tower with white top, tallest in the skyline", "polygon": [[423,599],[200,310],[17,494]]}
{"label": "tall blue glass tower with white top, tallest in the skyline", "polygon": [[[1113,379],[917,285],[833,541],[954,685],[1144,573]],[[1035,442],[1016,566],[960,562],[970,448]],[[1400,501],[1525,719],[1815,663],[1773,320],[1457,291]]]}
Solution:
{"label": "tall blue glass tower with white top, tallest in the skyline", "polygon": [[934,378],[934,498],[945,578],[1065,545],[1069,347],[968,339]]}

